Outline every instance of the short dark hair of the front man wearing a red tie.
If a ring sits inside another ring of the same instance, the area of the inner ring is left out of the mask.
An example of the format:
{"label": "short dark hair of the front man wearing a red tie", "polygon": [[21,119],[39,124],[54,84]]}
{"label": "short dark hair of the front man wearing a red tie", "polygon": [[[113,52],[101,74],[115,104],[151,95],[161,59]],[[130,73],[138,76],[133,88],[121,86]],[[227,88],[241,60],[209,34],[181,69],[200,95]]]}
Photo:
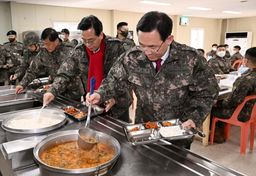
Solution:
{"label": "short dark hair of the front man wearing a red tie", "polygon": [[160,34],[161,40],[165,41],[168,36],[172,34],[172,19],[163,12],[151,11],[140,19],[137,24],[137,35],[139,30],[141,32],[152,32],[157,30]]}

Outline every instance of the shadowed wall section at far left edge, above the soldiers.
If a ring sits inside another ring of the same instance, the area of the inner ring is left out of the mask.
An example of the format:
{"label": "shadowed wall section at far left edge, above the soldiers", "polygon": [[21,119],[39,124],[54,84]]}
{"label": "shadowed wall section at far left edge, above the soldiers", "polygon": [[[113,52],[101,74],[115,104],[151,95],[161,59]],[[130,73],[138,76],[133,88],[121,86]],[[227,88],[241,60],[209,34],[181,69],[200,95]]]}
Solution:
{"label": "shadowed wall section at far left edge, above the soldiers", "polygon": [[0,2],[0,44],[8,42],[7,32],[11,30],[10,3]]}

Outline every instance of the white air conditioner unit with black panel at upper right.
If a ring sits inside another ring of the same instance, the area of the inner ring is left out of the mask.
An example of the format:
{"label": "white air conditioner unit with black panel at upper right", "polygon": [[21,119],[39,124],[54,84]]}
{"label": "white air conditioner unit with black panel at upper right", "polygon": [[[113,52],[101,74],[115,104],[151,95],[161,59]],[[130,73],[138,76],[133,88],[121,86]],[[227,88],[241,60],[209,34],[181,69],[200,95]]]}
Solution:
{"label": "white air conditioner unit with black panel at upper right", "polygon": [[225,44],[228,44],[228,51],[232,55],[234,46],[240,46],[240,54],[244,56],[247,49],[252,47],[252,32],[226,32]]}

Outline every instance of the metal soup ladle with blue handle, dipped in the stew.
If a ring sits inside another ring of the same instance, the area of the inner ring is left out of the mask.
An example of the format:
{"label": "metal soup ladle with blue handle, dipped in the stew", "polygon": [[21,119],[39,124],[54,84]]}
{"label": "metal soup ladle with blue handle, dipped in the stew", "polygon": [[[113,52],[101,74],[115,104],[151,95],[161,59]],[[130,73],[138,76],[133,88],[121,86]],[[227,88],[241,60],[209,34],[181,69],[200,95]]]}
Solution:
{"label": "metal soup ladle with blue handle, dipped in the stew", "polygon": [[[91,82],[90,82],[90,97],[93,94],[95,82],[96,82],[95,78],[92,77]],[[100,142],[100,136],[94,130],[89,129],[90,118],[91,118],[91,108],[92,108],[92,102],[90,103],[90,106],[88,109],[85,128],[81,128],[80,130],[78,130],[77,144],[82,150],[86,150],[86,151],[92,150],[92,148],[94,148],[94,146],[98,142]],[[88,142],[82,138],[84,136],[92,137],[96,140],[96,142]]]}

